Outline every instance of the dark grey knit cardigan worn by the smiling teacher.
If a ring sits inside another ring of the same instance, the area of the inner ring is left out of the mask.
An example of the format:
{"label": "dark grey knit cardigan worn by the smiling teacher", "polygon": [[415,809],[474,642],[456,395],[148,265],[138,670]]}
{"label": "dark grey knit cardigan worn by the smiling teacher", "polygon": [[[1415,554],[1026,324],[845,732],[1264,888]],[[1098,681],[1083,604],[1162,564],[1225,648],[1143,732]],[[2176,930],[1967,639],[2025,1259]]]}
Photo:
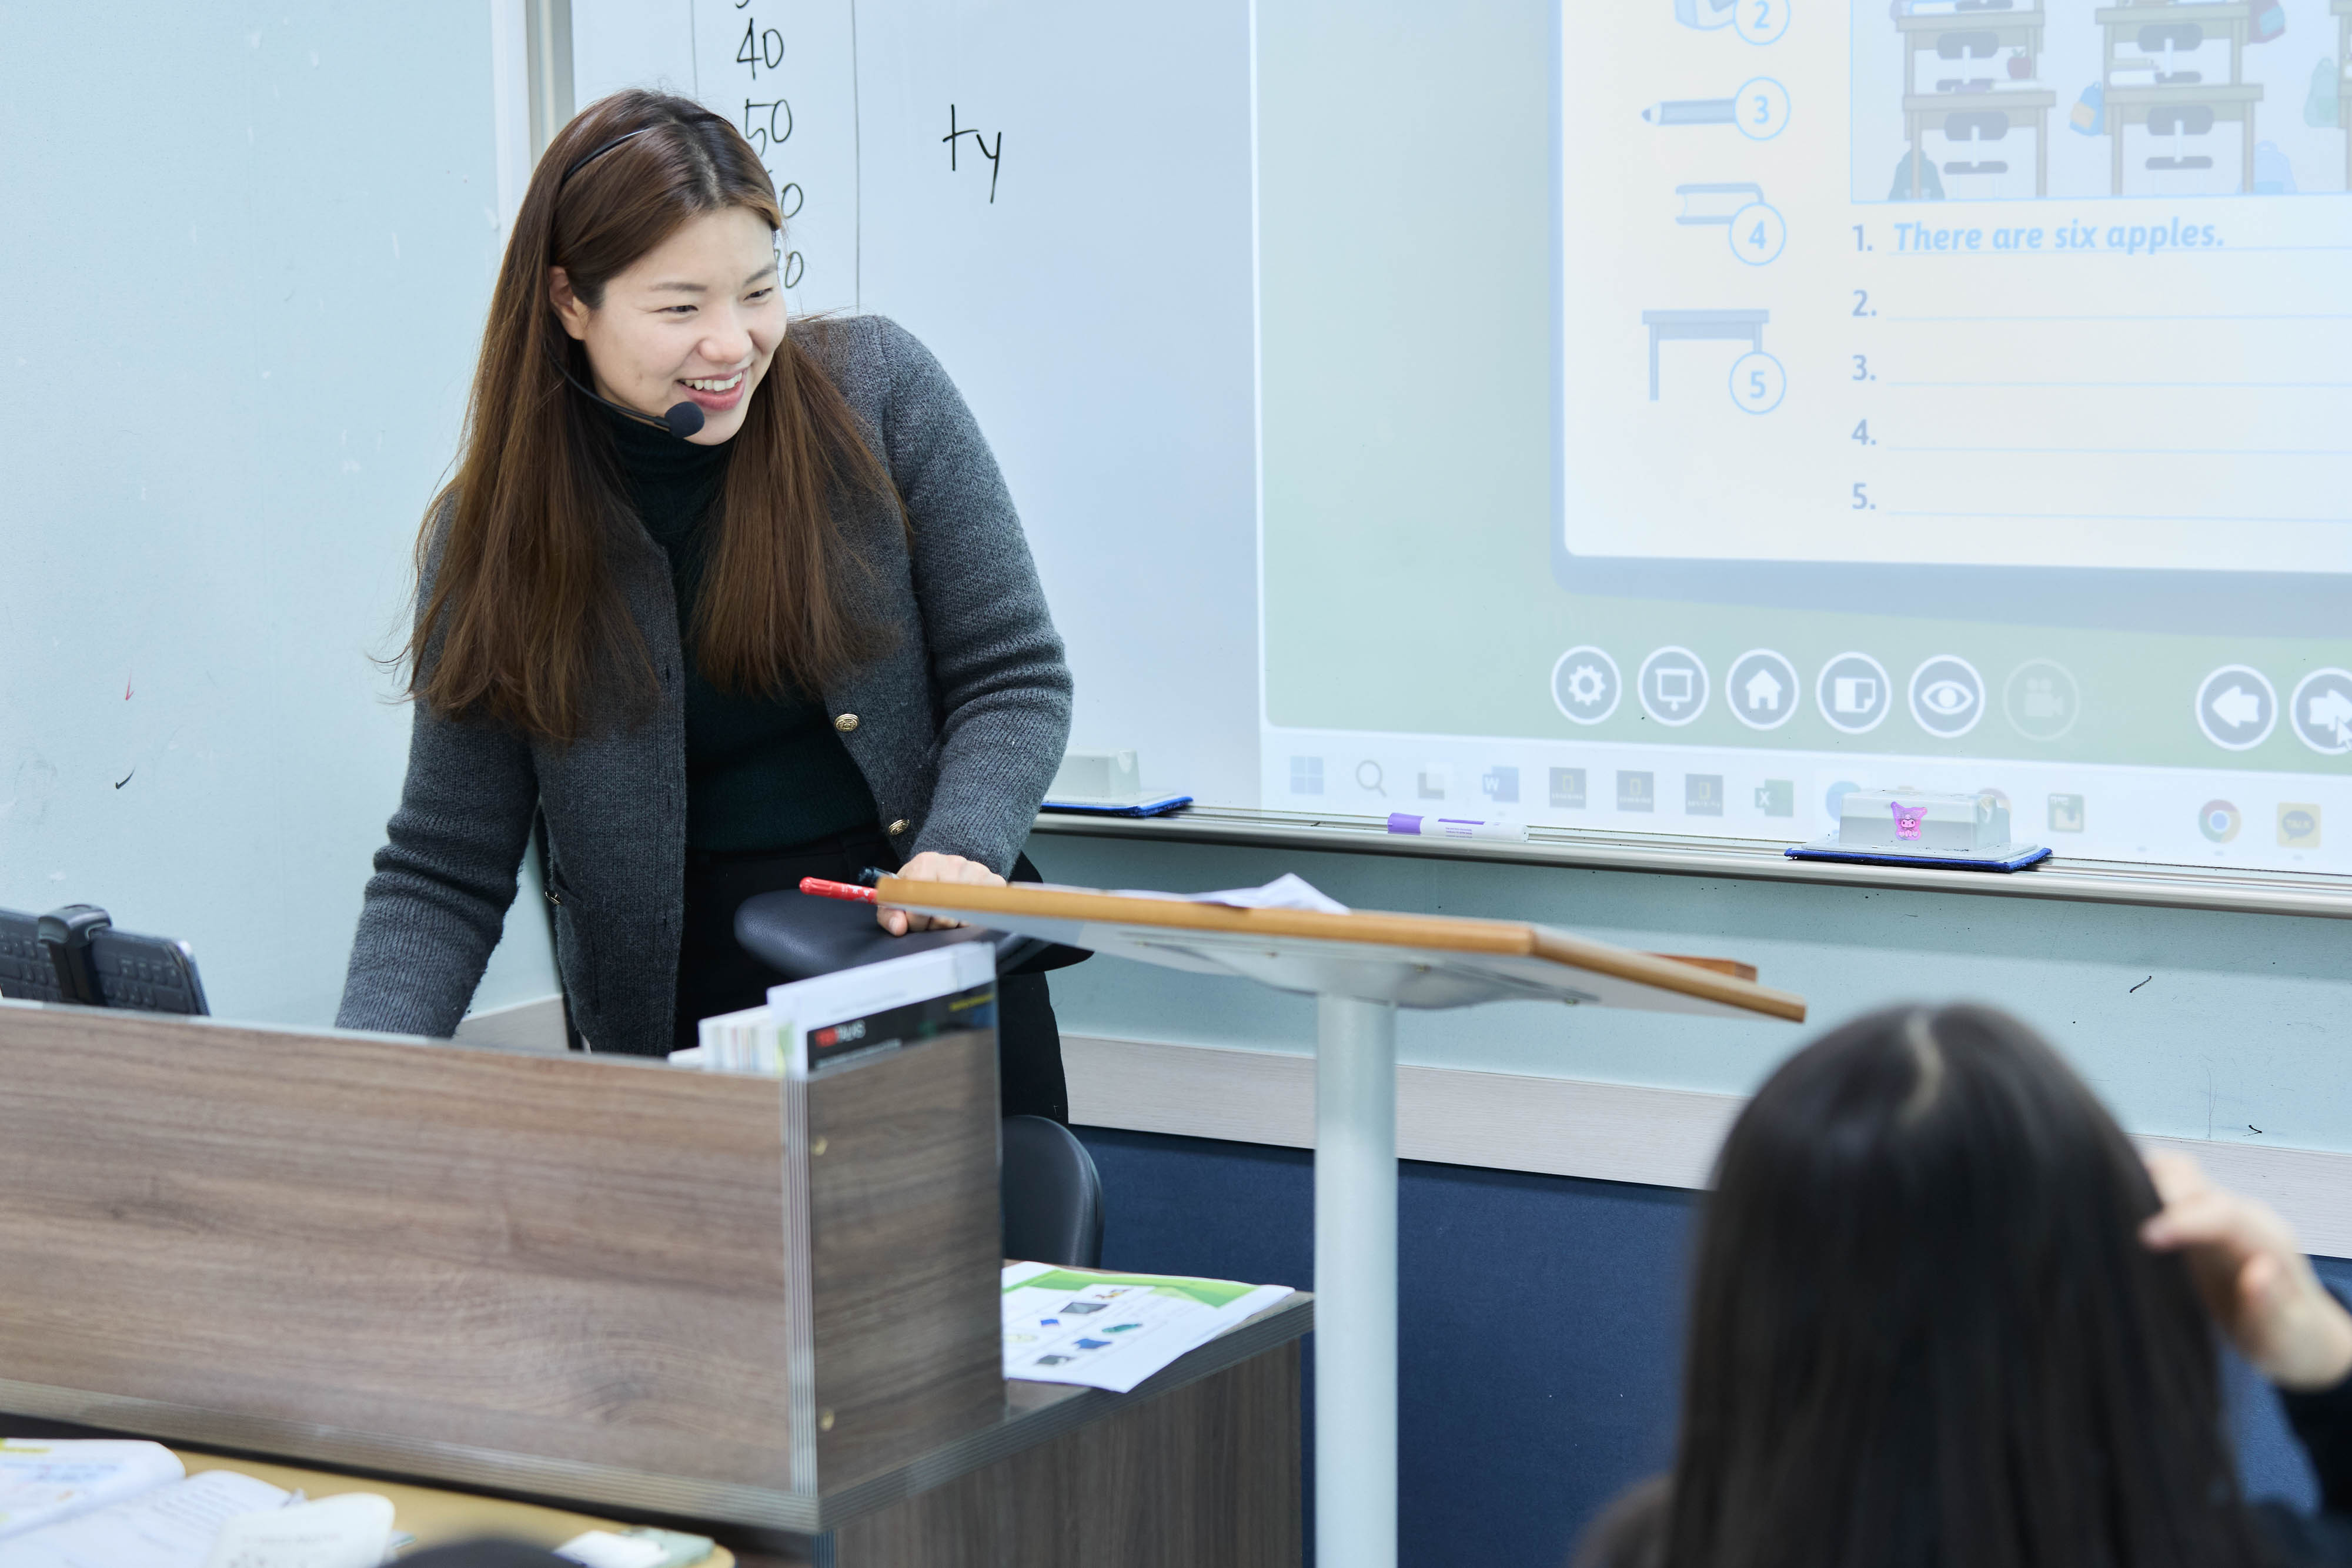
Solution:
{"label": "dark grey knit cardigan worn by the smiling teacher", "polygon": [[[826,708],[901,853],[936,849],[1002,875],[1070,731],[1070,668],[1021,520],[971,411],[913,334],[875,315],[797,331],[866,423],[913,524],[877,501],[840,520],[875,569],[858,611],[896,642],[828,682]],[[607,719],[562,748],[419,703],[336,1025],[456,1030],[539,806],[574,1027],[597,1051],[670,1048],[687,849],[677,602],[644,529],[614,571],[661,679],[652,717]]]}

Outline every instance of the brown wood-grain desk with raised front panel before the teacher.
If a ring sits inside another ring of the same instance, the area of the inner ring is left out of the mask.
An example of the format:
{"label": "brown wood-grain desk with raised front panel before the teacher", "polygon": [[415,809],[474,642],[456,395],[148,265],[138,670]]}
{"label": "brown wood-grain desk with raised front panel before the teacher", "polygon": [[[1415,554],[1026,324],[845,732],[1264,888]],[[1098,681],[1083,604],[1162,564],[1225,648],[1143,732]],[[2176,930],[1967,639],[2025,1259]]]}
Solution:
{"label": "brown wood-grain desk with raised front panel before the teacher", "polygon": [[1131,1394],[1004,1382],[995,1060],[779,1084],[0,1001],[0,1410],[743,1568],[1296,1563],[1308,1298]]}

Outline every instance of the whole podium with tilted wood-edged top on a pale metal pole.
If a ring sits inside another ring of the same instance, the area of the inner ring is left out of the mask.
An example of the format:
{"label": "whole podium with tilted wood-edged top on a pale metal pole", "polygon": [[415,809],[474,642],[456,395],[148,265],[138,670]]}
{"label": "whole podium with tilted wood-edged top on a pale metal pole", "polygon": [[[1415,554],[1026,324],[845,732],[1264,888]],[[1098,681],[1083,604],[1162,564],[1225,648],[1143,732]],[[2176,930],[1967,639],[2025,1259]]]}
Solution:
{"label": "whole podium with tilted wood-edged top on a pale metal pole", "polygon": [[875,893],[896,910],[1315,997],[1315,1561],[1324,1568],[1397,1561],[1397,1009],[1517,999],[1804,1020],[1802,997],[1757,985],[1743,964],[1630,952],[1519,922],[903,877],[884,877]]}

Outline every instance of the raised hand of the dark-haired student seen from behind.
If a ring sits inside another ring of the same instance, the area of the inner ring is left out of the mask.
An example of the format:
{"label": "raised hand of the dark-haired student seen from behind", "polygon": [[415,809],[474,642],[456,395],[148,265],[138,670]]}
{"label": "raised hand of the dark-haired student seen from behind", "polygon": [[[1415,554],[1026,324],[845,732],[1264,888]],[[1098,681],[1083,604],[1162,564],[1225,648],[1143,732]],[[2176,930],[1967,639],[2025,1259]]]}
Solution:
{"label": "raised hand of the dark-haired student seen from behind", "polygon": [[2187,1258],[2206,1309],[2281,1389],[2331,1389],[2352,1373],[2352,1314],[2319,1286],[2279,1213],[2206,1180],[2187,1154],[2150,1154],[2164,1208],[2140,1241]]}

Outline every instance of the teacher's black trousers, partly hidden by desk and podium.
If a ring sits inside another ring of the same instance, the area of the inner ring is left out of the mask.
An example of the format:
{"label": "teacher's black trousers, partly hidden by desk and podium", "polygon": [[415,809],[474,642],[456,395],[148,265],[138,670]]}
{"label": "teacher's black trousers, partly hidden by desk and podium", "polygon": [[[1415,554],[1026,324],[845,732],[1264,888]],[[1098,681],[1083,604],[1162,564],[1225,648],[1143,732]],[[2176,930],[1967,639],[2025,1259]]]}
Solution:
{"label": "teacher's black trousers, partly hidden by desk and podium", "polygon": [[[797,889],[802,877],[856,882],[868,865],[898,870],[898,851],[877,827],[844,832],[779,851],[687,851],[687,931],[677,950],[677,1048],[696,1041],[696,1025],[767,1001],[781,973],[734,940],[734,912],[746,898]],[[1014,860],[1014,882],[1040,882],[1028,856]],[[997,980],[997,1088],[1007,1117],[1070,1119],[1070,1088],[1061,1077],[1061,1027],[1044,976]]]}

